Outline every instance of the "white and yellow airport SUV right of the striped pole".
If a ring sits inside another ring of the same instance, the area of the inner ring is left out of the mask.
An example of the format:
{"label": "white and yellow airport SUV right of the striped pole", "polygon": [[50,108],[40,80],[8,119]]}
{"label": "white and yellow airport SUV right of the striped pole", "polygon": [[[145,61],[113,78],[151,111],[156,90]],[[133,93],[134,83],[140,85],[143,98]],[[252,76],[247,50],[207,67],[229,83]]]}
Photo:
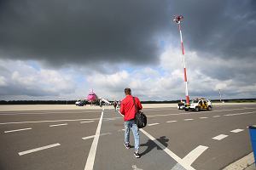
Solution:
{"label": "white and yellow airport SUV right of the striped pole", "polygon": [[185,105],[185,111],[202,111],[212,110],[212,102],[209,99],[199,98],[199,99],[192,99],[189,105]]}

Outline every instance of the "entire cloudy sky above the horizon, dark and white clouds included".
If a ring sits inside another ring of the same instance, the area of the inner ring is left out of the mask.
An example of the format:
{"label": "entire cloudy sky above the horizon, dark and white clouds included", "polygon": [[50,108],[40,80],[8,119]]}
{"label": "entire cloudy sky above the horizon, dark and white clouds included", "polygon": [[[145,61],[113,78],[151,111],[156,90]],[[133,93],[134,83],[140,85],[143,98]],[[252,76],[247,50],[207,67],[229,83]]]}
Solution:
{"label": "entire cloudy sky above the horizon, dark and white clouds included", "polygon": [[256,98],[255,0],[0,1],[0,99]]}

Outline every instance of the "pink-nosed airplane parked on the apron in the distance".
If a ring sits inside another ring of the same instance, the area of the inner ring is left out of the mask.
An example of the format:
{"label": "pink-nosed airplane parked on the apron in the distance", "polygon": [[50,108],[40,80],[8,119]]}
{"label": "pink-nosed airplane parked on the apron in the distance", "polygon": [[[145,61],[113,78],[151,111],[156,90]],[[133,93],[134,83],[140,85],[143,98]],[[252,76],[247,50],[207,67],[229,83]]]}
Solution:
{"label": "pink-nosed airplane parked on the apron in the distance", "polygon": [[76,105],[79,106],[83,106],[86,105],[86,102],[89,102],[90,105],[92,104],[98,104],[100,106],[102,106],[103,103],[105,103],[106,105],[111,105],[111,103],[108,101],[108,99],[104,99],[102,97],[98,97],[93,90],[90,91],[90,93],[88,94],[86,99],[79,99],[76,101]]}

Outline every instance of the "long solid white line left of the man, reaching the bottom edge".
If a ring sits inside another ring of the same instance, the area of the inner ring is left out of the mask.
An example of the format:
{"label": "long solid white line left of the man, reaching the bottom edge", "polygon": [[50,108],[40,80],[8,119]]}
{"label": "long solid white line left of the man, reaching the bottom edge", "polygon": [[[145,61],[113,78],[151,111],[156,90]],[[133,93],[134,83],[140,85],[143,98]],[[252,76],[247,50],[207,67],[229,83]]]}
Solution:
{"label": "long solid white line left of the man, reaching the bottom edge", "polygon": [[89,155],[87,157],[87,161],[86,161],[84,170],[93,170],[94,160],[95,160],[96,150],[97,150],[97,145],[98,145],[98,141],[99,141],[100,134],[101,134],[102,118],[103,118],[103,113],[104,113],[103,111],[104,111],[104,109],[102,110],[102,116],[101,116],[100,121],[98,123],[98,127],[96,129],[95,138],[93,139],[93,142],[91,144],[90,152],[89,152]]}

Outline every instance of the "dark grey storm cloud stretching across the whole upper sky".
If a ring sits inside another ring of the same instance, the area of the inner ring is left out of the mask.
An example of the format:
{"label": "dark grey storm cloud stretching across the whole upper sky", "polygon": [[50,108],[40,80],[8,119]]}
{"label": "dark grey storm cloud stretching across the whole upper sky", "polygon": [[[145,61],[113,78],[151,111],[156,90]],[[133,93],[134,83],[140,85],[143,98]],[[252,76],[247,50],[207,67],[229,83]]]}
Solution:
{"label": "dark grey storm cloud stretching across the whole upper sky", "polygon": [[185,48],[224,58],[256,54],[253,0],[26,0],[0,3],[0,54],[50,65],[101,62],[155,64],[157,37],[177,38],[183,14]]}

